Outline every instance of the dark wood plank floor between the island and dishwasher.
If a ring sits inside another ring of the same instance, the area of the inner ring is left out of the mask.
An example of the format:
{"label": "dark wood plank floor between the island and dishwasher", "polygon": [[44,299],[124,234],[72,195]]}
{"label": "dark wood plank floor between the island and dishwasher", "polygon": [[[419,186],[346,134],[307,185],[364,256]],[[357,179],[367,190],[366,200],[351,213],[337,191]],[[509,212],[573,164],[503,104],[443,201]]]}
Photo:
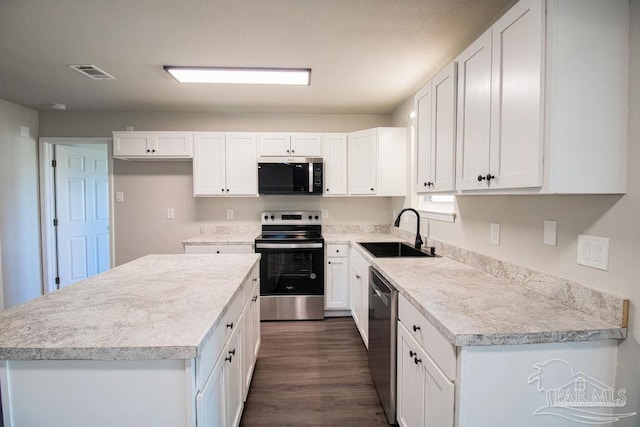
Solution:
{"label": "dark wood plank floor between the island and dishwasher", "polygon": [[351,318],[261,328],[241,426],[388,426]]}

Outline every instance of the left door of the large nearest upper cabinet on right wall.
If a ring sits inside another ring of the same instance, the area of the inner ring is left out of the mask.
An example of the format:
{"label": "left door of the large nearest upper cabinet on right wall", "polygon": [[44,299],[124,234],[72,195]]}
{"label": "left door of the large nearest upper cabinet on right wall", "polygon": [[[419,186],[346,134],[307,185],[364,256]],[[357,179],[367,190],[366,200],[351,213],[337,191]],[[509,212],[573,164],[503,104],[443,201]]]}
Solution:
{"label": "left door of the large nearest upper cabinet on right wall", "polygon": [[471,44],[458,62],[457,169],[460,190],[486,189],[491,142],[491,30]]}

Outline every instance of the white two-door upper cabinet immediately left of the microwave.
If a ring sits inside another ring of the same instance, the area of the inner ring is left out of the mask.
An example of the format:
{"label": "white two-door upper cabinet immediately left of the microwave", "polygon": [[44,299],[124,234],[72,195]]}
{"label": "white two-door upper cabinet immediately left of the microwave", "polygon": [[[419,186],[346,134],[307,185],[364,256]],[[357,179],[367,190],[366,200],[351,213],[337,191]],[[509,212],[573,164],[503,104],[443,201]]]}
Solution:
{"label": "white two-door upper cabinet immediately left of the microwave", "polygon": [[195,196],[257,196],[257,138],[253,133],[197,132]]}

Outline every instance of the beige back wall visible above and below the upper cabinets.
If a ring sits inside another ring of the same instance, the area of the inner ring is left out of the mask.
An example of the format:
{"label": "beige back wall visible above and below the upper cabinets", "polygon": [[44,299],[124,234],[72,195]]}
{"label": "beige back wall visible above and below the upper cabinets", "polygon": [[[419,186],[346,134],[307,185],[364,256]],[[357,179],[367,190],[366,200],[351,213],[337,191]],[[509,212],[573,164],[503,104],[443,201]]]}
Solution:
{"label": "beige back wall visible above and below the upper cabinets", "polygon": [[[41,134],[111,136],[114,130],[308,131],[349,132],[390,123],[387,115],[209,114],[170,112],[42,112]],[[114,205],[115,264],[149,253],[177,253],[180,242],[197,236],[203,224],[259,224],[270,209],[328,209],[325,224],[389,224],[390,198],[194,198],[191,162],[114,160],[114,191],[124,203]],[[166,218],[167,208],[175,219]],[[226,219],[234,209],[235,219]]]}

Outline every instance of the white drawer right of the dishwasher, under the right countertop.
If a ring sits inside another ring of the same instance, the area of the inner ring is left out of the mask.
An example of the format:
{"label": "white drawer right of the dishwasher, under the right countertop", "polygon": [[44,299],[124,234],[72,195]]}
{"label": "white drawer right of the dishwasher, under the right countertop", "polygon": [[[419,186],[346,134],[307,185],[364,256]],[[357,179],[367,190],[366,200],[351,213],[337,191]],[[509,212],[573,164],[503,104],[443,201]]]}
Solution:
{"label": "white drawer right of the dishwasher, under the right countertop", "polygon": [[398,321],[450,379],[456,377],[456,348],[404,296],[398,298]]}

